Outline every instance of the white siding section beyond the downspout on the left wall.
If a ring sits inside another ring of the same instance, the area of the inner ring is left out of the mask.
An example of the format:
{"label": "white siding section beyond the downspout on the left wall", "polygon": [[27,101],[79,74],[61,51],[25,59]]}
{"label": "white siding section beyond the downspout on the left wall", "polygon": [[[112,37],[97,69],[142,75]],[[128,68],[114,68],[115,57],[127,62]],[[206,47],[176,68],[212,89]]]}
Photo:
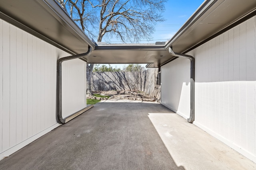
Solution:
{"label": "white siding section beyond the downspout on the left wall", "polygon": [[62,117],[86,107],[86,62],[80,59],[62,63]]}

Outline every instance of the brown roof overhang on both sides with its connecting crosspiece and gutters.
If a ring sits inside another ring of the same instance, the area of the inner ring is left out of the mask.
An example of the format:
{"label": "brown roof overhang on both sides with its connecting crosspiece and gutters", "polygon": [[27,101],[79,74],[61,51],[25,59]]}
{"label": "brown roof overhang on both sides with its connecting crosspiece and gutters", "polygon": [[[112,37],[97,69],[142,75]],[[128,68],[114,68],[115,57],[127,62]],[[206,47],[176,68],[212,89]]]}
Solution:
{"label": "brown roof overhang on both sides with its connecting crosspiece and gutters", "polygon": [[256,0],[206,0],[164,45],[97,45],[54,0],[0,3],[0,18],[72,55],[85,53],[90,45],[92,53],[84,57],[88,63],[149,63],[147,67],[159,67],[174,59],[166,50],[170,46],[176,53],[187,52],[256,13]]}

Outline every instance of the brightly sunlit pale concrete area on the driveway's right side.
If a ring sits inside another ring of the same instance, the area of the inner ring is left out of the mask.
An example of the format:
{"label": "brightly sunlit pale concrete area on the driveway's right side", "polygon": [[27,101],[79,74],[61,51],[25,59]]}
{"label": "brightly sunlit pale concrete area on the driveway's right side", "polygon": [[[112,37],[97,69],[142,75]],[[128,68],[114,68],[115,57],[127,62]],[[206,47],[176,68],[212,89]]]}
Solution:
{"label": "brightly sunlit pale concrete area on the driveway's right side", "polygon": [[149,113],[177,166],[186,170],[255,170],[256,164],[178,114]]}

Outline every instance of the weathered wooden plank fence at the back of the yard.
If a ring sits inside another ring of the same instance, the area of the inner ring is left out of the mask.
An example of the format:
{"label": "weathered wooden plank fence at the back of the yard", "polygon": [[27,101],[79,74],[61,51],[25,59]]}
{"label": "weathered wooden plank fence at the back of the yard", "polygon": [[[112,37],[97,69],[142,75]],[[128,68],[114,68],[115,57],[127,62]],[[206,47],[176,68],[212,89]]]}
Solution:
{"label": "weathered wooden plank fence at the back of the yard", "polygon": [[93,72],[92,91],[143,91],[160,101],[158,68],[140,72]]}

